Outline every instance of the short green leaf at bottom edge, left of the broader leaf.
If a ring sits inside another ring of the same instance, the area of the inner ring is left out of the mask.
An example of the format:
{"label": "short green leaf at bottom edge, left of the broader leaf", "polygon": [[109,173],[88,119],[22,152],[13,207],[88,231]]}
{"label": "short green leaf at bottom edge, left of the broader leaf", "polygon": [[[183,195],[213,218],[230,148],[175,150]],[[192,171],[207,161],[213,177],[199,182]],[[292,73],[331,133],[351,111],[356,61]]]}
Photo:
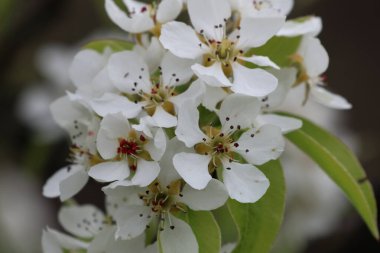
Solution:
{"label": "short green leaf at bottom edge, left of the broader leaf", "polygon": [[212,213],[189,210],[186,218],[197,238],[199,253],[220,253],[222,239]]}

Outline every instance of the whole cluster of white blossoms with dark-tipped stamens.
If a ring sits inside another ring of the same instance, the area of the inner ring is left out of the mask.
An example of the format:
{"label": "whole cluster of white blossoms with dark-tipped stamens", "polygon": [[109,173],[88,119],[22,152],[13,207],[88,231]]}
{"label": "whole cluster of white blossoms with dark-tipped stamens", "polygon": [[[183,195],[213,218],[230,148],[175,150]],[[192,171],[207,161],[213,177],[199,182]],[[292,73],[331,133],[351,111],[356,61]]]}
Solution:
{"label": "whole cluster of white blossoms with dark-tipped stamens", "polygon": [[[189,212],[266,193],[259,166],[278,159],[283,134],[302,125],[274,113],[293,87],[305,87],[303,103],[350,108],[326,89],[320,19],[286,21],[291,0],[123,2],[105,8],[136,45],[75,56],[76,90],[51,105],[70,134],[70,165],[43,189],[68,201],[92,178],[105,184],[106,213],[69,201],[59,220],[73,236],[47,229],[46,253],[196,253]],[[184,10],[191,26],[175,21]],[[288,66],[256,54],[280,36],[302,40]]]}

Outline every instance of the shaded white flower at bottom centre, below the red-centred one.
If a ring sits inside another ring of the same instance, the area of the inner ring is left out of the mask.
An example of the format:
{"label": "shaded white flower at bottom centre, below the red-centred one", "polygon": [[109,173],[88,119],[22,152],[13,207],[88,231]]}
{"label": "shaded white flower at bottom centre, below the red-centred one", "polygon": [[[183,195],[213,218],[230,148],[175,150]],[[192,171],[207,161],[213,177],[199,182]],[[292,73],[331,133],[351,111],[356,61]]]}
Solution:
{"label": "shaded white flower at bottom centre, below the red-centred one", "polygon": [[139,196],[139,203],[126,203],[115,213],[116,236],[132,239],[142,234],[152,222],[158,222],[158,235],[163,252],[196,253],[198,243],[191,227],[173,213],[186,212],[187,208],[213,210],[222,206],[228,194],[218,180],[211,180],[201,191],[184,184],[173,167],[173,155],[186,147],[173,138],[160,162],[161,173],[147,188],[130,185],[128,181],[115,182],[104,188],[108,196]]}

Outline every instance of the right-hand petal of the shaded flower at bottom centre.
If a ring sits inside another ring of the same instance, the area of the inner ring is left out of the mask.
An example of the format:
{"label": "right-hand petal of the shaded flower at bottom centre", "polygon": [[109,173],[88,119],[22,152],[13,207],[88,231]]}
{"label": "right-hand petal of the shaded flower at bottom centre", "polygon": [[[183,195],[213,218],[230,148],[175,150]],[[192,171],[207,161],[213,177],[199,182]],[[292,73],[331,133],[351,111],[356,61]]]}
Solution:
{"label": "right-hand petal of the shaded flower at bottom centre", "polygon": [[203,190],[195,190],[186,184],[182,190],[182,195],[183,197],[180,197],[178,201],[186,204],[194,211],[217,209],[224,205],[228,199],[226,188],[222,182],[216,179],[211,179]]}

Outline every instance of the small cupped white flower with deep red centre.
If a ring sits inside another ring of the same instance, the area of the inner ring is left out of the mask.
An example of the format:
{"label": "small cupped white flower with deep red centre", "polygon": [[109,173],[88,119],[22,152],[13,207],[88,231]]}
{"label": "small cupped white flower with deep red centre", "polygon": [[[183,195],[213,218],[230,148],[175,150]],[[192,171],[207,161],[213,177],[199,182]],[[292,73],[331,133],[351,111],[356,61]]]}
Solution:
{"label": "small cupped white flower with deep red centre", "polygon": [[90,169],[91,177],[112,182],[131,176],[134,184],[147,186],[160,172],[157,161],[165,152],[166,136],[161,128],[153,137],[146,136],[133,129],[122,114],[109,114],[100,123],[96,145],[105,162]]}

